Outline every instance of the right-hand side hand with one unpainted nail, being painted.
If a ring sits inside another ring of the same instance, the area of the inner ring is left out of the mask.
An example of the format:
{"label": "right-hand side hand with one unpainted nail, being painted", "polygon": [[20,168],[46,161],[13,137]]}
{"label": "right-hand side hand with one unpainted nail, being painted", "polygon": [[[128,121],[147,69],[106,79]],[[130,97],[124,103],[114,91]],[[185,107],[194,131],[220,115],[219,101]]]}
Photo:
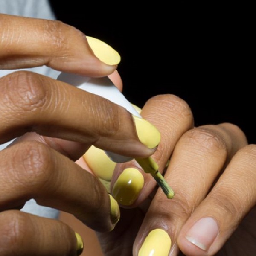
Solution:
{"label": "right-hand side hand with one unpainted nail, being painted", "polygon": [[141,114],[161,132],[152,157],[175,197],[167,199],[135,161],[118,164],[111,192],[121,218],[111,233],[97,233],[104,255],[254,255],[255,146],[236,125],[193,127],[189,106],[176,96],[150,99]]}

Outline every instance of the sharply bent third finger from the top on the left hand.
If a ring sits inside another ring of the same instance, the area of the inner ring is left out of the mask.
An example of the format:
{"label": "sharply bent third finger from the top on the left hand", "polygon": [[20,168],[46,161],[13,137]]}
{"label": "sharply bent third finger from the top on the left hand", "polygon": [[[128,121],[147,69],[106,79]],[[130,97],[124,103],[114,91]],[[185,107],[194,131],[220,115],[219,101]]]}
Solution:
{"label": "sharply bent third finger from the top on the left hand", "polygon": [[99,231],[113,229],[119,218],[117,203],[99,180],[47,145],[26,141],[4,149],[0,170],[2,211],[35,198]]}

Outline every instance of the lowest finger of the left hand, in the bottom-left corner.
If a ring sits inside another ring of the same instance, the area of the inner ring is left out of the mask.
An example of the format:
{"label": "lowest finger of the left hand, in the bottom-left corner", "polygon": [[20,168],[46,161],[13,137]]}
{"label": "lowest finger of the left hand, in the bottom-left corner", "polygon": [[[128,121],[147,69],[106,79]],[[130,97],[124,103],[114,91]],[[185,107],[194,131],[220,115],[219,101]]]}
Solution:
{"label": "lowest finger of the left hand, in the bottom-left corner", "polygon": [[9,210],[0,212],[0,226],[1,255],[76,256],[82,251],[79,235],[57,220]]}

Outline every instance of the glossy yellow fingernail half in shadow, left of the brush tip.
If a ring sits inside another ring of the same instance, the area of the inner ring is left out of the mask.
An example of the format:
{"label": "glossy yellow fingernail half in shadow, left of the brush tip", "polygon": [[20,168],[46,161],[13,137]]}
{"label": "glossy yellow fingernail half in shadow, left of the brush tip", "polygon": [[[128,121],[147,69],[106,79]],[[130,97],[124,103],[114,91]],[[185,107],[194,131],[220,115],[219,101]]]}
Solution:
{"label": "glossy yellow fingernail half in shadow, left of the brush tip", "polygon": [[113,185],[113,197],[122,205],[131,205],[144,185],[143,175],[135,168],[124,169]]}

